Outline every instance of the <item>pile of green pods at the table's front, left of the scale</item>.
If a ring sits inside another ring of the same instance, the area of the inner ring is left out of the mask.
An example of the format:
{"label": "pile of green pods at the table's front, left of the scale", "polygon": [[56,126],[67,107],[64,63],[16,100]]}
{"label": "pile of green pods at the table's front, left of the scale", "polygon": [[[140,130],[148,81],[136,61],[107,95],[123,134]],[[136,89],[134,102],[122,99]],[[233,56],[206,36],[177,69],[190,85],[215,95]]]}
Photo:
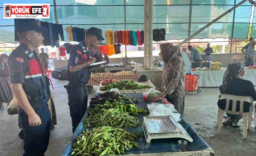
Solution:
{"label": "pile of green pods at the table's front, left of the scale", "polygon": [[77,142],[73,143],[71,155],[85,156],[103,156],[103,155],[121,155],[124,150],[132,147],[139,148],[137,142],[134,142],[141,134],[127,132],[122,128],[99,127],[92,130],[83,130],[83,133],[77,136]]}

